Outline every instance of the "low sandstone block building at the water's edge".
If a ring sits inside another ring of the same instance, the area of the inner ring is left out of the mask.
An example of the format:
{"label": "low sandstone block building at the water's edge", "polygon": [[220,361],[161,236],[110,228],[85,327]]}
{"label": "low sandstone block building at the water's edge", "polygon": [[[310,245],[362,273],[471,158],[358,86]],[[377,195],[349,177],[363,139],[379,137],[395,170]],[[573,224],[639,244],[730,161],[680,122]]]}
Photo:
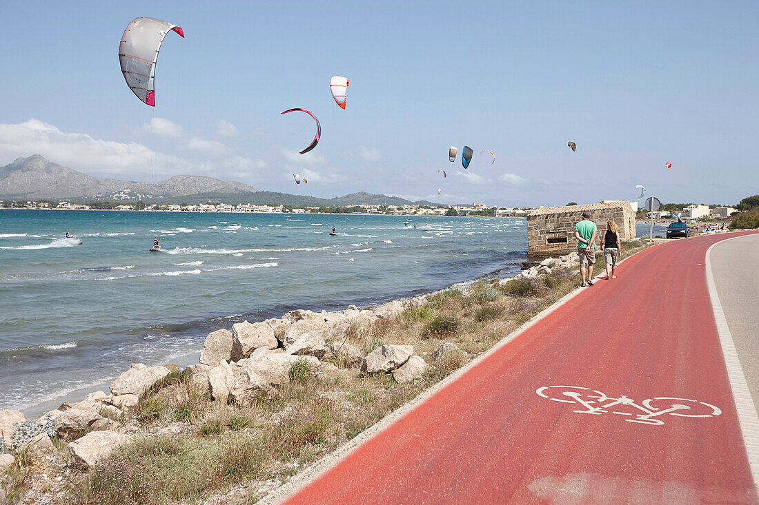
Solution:
{"label": "low sandstone block building at the water's edge", "polygon": [[619,226],[619,237],[635,238],[635,212],[630,202],[591,203],[565,207],[543,207],[527,216],[528,256],[540,258],[561,256],[577,250],[575,224],[581,214],[591,213],[591,221],[598,227],[597,247],[606,230],[606,221],[613,219]]}

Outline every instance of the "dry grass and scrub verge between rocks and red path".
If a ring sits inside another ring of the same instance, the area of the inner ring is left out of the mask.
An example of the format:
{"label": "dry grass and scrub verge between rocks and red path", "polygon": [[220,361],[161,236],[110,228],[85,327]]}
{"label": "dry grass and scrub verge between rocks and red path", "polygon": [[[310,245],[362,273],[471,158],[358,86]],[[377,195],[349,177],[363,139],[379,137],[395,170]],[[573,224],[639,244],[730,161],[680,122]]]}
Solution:
{"label": "dry grass and scrub verge between rocks and red path", "polygon": [[[632,240],[623,249],[629,256],[645,247]],[[597,271],[603,271],[603,256]],[[147,387],[128,413],[109,418],[115,423],[111,429],[130,434],[131,441],[92,469],[77,463],[66,443],[95,428],[68,439],[53,436],[55,455],[46,463],[11,448],[17,457],[2,476],[5,499],[254,503],[578,287],[575,268],[542,272],[508,281],[482,278],[469,287],[394,302],[399,305],[392,315],[351,322],[341,335],[326,339],[330,349],[357,350],[359,359],[334,352],[314,365],[304,356],[291,362],[287,381],[244,405],[213,401],[191,369],[173,369]],[[424,372],[408,382],[386,372],[362,372],[361,356],[383,345],[413,346]]]}

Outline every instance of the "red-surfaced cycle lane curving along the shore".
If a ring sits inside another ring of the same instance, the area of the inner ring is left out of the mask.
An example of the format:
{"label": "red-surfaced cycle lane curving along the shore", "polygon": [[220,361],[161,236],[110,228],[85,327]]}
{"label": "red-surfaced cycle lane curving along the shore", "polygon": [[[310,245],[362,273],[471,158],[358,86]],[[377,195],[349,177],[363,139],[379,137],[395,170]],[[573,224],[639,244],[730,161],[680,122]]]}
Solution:
{"label": "red-surfaced cycle lane curving along the shore", "polygon": [[704,265],[737,235],[631,257],[287,503],[759,503]]}

